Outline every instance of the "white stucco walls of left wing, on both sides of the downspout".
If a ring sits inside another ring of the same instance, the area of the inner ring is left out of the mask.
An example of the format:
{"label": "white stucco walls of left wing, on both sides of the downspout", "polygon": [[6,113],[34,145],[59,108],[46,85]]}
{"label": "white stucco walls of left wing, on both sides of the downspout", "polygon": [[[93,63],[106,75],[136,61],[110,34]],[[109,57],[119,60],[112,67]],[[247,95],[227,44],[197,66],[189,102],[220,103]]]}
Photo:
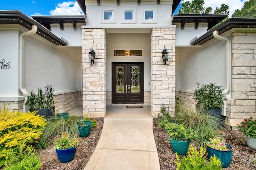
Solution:
{"label": "white stucco walls of left wing, on both sides of the downspout", "polygon": [[[8,28],[8,29],[7,29]],[[28,31],[19,25],[1,25],[0,60],[10,69],[0,69],[0,100],[24,100],[19,90],[19,36]],[[27,91],[46,83],[55,94],[82,89],[82,47],[56,46],[34,34],[24,39],[24,82]]]}

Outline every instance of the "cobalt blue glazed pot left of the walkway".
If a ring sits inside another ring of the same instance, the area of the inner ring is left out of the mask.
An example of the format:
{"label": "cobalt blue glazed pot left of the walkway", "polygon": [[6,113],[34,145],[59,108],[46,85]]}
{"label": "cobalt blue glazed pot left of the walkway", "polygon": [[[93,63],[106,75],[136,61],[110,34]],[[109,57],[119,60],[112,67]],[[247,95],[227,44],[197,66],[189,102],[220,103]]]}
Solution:
{"label": "cobalt blue glazed pot left of the walkway", "polygon": [[56,154],[60,162],[66,163],[74,159],[76,148],[56,149]]}

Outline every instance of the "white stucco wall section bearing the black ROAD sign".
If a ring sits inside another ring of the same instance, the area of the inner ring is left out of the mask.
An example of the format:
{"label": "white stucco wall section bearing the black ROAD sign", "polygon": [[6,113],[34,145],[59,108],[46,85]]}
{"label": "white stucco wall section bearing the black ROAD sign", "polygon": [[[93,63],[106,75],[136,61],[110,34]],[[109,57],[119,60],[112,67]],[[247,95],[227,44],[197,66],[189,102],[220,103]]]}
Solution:
{"label": "white stucco wall section bearing the black ROAD sign", "polygon": [[3,59],[5,59],[5,63],[10,61],[10,69],[0,68],[0,98],[6,96],[18,97],[20,95],[18,82],[18,26],[13,25],[12,29],[8,29],[8,27],[0,25],[0,62]]}

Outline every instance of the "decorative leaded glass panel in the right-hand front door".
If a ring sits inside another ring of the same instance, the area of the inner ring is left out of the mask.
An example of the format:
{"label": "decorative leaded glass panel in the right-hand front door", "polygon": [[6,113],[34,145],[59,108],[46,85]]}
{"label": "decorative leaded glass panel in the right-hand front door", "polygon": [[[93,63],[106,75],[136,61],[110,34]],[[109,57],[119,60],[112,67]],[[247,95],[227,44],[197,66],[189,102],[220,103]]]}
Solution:
{"label": "decorative leaded glass panel in the right-hand front door", "polygon": [[140,93],[140,66],[131,66],[131,93]]}

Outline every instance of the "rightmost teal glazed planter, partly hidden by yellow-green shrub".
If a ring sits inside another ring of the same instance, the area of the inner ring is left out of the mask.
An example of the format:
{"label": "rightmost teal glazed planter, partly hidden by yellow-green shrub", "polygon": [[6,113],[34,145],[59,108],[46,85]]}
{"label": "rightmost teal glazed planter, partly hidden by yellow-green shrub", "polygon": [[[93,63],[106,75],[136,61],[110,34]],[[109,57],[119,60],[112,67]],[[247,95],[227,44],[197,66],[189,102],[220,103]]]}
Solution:
{"label": "rightmost teal glazed planter, partly hidden by yellow-green shrub", "polygon": [[214,156],[215,154],[216,157],[220,158],[223,168],[227,168],[228,166],[230,166],[231,159],[232,159],[232,150],[233,150],[233,147],[230,146],[229,144],[225,144],[225,145],[228,146],[230,150],[216,150],[214,148],[210,148],[209,146],[207,146],[207,152],[208,152],[209,158],[211,156]]}

